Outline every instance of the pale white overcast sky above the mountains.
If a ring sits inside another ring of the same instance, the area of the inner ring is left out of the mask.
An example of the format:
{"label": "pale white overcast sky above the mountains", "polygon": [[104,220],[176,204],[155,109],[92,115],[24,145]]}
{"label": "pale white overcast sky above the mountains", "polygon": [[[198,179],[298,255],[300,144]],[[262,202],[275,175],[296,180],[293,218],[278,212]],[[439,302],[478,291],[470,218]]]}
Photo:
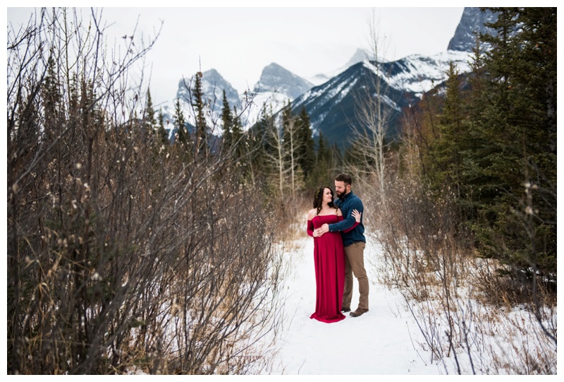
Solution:
{"label": "pale white overcast sky above the mountains", "polygon": [[[310,1],[300,1],[307,4]],[[12,1],[13,3],[13,1]],[[218,1],[202,2],[214,5]],[[292,2],[288,4],[293,4]],[[340,5],[362,1],[341,1]],[[120,1],[111,4],[119,5]],[[152,2],[157,4],[157,1]],[[166,4],[166,1],[159,4]],[[245,4],[237,1],[236,4]],[[285,3],[286,4],[286,3]],[[329,1],[326,4],[336,4]],[[398,3],[400,4],[400,3]],[[108,8],[102,13],[108,44],[130,35],[161,35],[147,55],[155,104],[170,102],[178,80],[216,69],[238,92],[253,88],[264,66],[275,62],[307,78],[345,65],[358,48],[368,48],[372,11],[388,59],[446,51],[464,8]],[[89,16],[86,8],[83,13]],[[27,21],[32,8],[8,8],[9,23]]]}

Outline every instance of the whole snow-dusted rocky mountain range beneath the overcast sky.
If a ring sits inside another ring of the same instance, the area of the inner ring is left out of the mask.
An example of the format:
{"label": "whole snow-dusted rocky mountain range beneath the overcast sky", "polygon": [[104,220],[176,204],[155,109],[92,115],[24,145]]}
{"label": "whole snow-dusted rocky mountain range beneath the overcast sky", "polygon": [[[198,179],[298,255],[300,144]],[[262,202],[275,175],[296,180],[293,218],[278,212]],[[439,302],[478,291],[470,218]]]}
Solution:
{"label": "whole snow-dusted rocky mountain range beneath the overcast sky", "polygon": [[[475,34],[491,33],[484,23],[495,20],[494,13],[483,13],[475,7],[465,8],[446,50],[432,56],[413,54],[396,61],[376,63],[367,59],[363,49],[358,49],[345,67],[308,79],[271,63],[264,67],[252,91],[252,105],[245,109],[241,121],[247,127],[252,126],[259,119],[263,105],[269,105],[272,112],[277,112],[290,102],[295,113],[305,108],[312,123],[314,138],[321,132],[329,145],[336,144],[342,149],[350,144],[346,137],[358,123],[355,115],[358,100],[367,94],[367,90],[374,96],[376,81],[380,81],[381,89],[386,89],[385,93],[381,93],[384,96],[383,105],[390,113],[388,138],[397,138],[403,109],[419,100],[424,92],[446,80],[450,61],[460,73],[470,71]],[[375,74],[378,78],[374,77]],[[202,90],[209,105],[213,105],[209,118],[216,120],[221,114],[223,90],[231,107],[240,109],[240,100],[245,97],[214,69],[202,73]],[[179,81],[176,97],[188,99],[184,80]]]}

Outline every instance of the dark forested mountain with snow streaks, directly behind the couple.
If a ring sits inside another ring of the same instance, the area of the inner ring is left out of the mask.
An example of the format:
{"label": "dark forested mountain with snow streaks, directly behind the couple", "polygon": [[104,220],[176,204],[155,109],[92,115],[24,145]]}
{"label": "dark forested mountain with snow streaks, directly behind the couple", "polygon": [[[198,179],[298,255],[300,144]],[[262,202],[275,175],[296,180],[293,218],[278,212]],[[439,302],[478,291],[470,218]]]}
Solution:
{"label": "dark forested mountain with snow streaks, directly behind the couple", "polygon": [[[375,96],[376,81],[380,81],[382,105],[390,116],[388,138],[396,138],[400,132],[403,109],[419,100],[424,92],[446,80],[445,72],[450,61],[461,72],[470,69],[468,53],[455,51],[434,56],[412,55],[378,64],[361,61],[323,85],[300,95],[292,102],[292,109],[298,113],[305,107],[314,136],[321,131],[329,145],[336,143],[339,148],[345,148],[349,144],[346,137],[358,123],[355,110],[359,102],[362,103],[362,97],[367,94]],[[377,76],[376,73],[386,75]]]}

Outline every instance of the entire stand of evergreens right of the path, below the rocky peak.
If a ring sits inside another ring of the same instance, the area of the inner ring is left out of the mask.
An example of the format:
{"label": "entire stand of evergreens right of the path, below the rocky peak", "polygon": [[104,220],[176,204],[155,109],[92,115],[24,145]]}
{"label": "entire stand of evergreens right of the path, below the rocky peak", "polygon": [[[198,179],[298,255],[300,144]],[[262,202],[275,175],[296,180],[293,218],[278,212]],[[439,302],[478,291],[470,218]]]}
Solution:
{"label": "entire stand of evergreens right of the path, below the rocky peak", "polygon": [[489,9],[496,35],[477,39],[471,73],[451,65],[424,96],[405,141],[480,256],[556,286],[556,8]]}

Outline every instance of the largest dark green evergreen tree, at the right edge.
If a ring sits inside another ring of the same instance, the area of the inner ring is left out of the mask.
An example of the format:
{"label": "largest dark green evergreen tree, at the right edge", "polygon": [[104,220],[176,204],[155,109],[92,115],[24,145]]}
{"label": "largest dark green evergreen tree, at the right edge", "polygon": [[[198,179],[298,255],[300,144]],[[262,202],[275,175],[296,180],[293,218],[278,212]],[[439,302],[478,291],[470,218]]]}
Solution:
{"label": "largest dark green evergreen tree, at the right edge", "polygon": [[480,250],[556,275],[556,8],[491,8],[487,79],[475,97],[484,147],[469,162]]}

